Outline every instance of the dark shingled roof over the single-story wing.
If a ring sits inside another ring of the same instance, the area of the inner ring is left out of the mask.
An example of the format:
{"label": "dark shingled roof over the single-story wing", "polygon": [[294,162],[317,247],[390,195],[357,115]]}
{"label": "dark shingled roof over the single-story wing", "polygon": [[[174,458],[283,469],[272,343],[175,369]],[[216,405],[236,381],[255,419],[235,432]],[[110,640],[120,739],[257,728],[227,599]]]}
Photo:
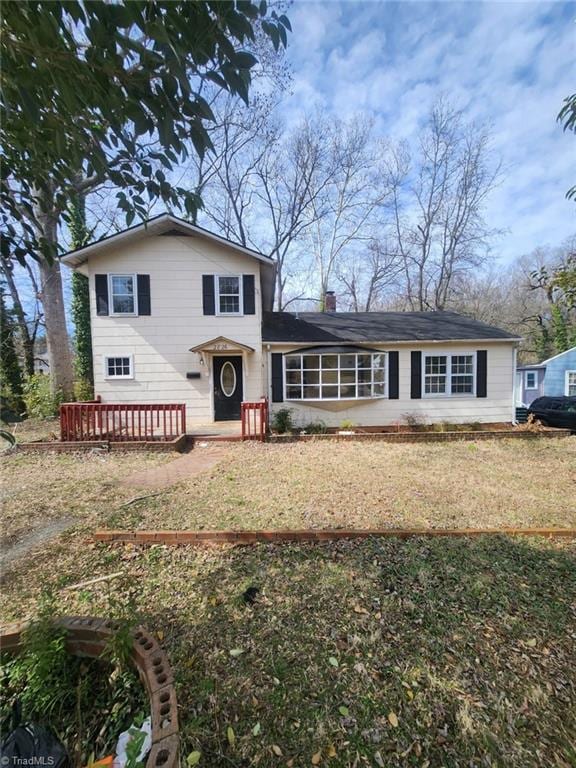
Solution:
{"label": "dark shingled roof over the single-story wing", "polygon": [[263,341],[388,342],[516,339],[456,312],[265,312]]}

